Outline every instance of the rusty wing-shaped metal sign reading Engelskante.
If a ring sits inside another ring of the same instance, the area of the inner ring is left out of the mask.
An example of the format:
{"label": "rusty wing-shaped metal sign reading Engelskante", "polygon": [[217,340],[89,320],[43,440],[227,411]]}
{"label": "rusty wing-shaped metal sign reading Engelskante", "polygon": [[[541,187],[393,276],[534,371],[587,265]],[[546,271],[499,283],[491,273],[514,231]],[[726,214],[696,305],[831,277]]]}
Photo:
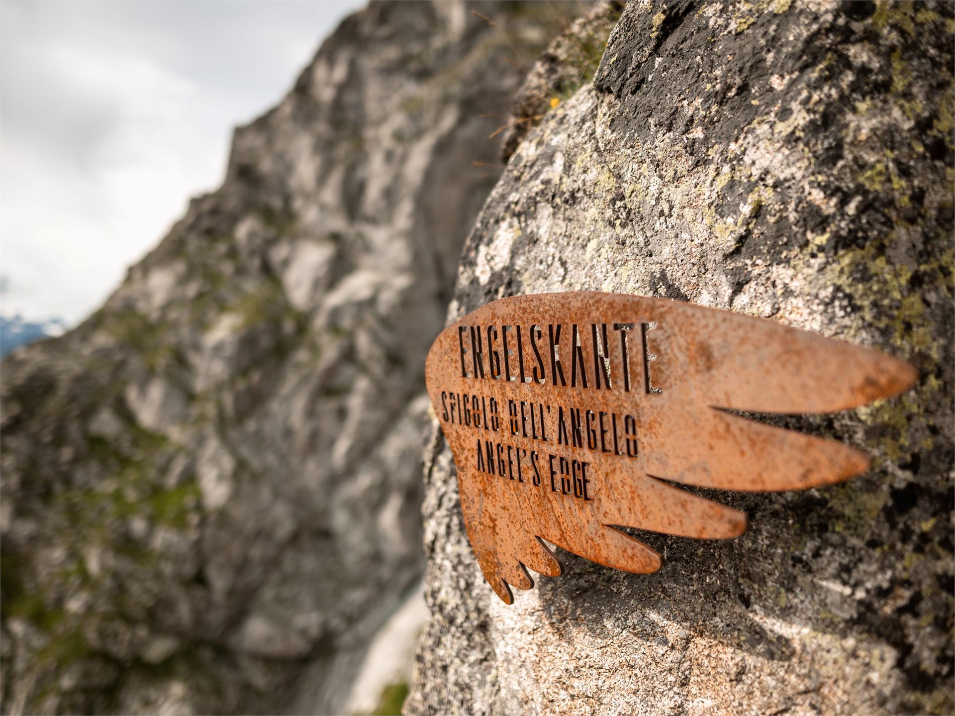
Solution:
{"label": "rusty wing-shaped metal sign reading Engelskante", "polygon": [[[728,411],[822,413],[896,395],[910,364],[769,320],[617,293],[502,298],[437,336],[428,392],[468,538],[513,601],[542,540],[627,572],[660,554],[625,532],[720,539],[746,515],[668,483],[774,491],[864,472],[858,449]],[[668,482],[664,482],[664,480]]]}

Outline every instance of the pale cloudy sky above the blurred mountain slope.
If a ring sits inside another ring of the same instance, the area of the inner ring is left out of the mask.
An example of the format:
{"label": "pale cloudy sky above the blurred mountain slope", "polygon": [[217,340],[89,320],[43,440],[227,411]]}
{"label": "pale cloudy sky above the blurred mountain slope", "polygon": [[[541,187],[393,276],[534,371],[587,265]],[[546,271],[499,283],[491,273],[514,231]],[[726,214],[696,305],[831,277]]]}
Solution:
{"label": "pale cloudy sky above the blurred mountain slope", "polygon": [[0,312],[89,315],[363,4],[0,3]]}

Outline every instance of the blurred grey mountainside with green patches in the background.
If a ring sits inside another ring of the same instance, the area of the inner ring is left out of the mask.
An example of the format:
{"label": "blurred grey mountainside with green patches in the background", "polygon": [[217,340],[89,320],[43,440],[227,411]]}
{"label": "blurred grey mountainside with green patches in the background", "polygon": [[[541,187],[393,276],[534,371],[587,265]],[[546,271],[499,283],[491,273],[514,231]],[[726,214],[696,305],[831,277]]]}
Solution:
{"label": "blurred grey mountainside with green patches in the background", "polygon": [[487,115],[557,32],[477,7],[350,16],[96,315],[4,360],[4,713],[343,707],[423,568]]}

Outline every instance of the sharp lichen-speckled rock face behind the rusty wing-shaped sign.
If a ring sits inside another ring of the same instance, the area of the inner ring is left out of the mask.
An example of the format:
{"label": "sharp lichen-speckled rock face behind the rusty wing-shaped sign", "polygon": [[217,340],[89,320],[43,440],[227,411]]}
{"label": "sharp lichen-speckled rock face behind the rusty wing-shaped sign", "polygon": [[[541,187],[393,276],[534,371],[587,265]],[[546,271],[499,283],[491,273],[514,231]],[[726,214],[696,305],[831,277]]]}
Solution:
{"label": "sharp lichen-speckled rock face behind the rusty wing-shaped sign", "polygon": [[483,581],[435,431],[406,713],[951,712],[953,29],[947,4],[627,6],[593,81],[516,147],[449,322],[520,293],[664,296],[876,347],[922,380],[785,420],[867,451],[867,474],[700,490],[749,531],[634,531],[666,555],[653,575],[561,553],[513,606]]}

